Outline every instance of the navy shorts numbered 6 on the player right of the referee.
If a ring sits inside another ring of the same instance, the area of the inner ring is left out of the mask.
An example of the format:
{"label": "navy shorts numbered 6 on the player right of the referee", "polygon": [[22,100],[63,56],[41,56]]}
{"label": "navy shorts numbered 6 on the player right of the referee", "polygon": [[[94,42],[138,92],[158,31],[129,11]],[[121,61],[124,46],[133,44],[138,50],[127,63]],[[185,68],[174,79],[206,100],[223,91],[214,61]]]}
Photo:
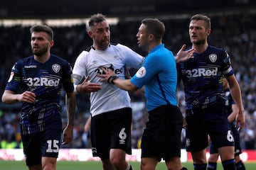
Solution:
{"label": "navy shorts numbered 6 on the player right of the referee", "polygon": [[208,135],[216,148],[234,146],[233,132],[224,103],[186,111],[186,149],[199,152],[208,147]]}

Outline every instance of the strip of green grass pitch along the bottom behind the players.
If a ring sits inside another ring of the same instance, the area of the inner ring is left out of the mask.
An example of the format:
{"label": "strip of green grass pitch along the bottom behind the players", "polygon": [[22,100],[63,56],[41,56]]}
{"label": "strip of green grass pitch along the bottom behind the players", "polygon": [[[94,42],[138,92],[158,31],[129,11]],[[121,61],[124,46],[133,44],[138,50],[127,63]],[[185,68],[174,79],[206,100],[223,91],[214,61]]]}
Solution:
{"label": "strip of green grass pitch along the bottom behind the players", "polygon": [[[132,164],[134,170],[139,170],[139,162],[129,162]],[[193,164],[191,162],[183,162],[183,165],[188,170],[193,170]],[[256,170],[256,162],[245,162],[246,170]],[[0,161],[1,170],[26,170],[25,162],[18,161]],[[58,170],[102,170],[101,162],[58,162]],[[166,166],[164,162],[159,163],[156,166],[156,170],[164,170]],[[221,164],[218,164],[218,170],[222,170]]]}

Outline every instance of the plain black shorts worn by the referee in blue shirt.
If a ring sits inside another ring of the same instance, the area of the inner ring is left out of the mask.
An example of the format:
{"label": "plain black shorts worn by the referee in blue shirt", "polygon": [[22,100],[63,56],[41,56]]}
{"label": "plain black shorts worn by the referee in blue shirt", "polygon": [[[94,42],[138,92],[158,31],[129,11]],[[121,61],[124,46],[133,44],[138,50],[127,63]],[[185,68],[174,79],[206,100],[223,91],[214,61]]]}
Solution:
{"label": "plain black shorts worn by the referee in blue shirt", "polygon": [[183,117],[177,106],[159,106],[149,111],[149,121],[142,135],[142,158],[168,160],[181,157]]}

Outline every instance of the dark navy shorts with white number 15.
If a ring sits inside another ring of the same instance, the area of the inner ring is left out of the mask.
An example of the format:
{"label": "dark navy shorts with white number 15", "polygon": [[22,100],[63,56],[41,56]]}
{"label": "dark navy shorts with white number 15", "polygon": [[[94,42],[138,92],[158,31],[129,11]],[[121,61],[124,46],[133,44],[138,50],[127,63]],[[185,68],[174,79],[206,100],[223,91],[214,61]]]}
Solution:
{"label": "dark navy shorts with white number 15", "polygon": [[42,157],[58,157],[61,128],[50,128],[44,132],[21,135],[26,165],[41,164]]}

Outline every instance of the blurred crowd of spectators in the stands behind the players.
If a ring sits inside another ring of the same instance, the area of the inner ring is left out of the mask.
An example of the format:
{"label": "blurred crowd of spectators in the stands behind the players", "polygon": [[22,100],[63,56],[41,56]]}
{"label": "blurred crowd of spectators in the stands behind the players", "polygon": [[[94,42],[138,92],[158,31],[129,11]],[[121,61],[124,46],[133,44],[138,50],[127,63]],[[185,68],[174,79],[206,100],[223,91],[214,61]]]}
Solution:
{"label": "blurred crowd of spectators in the stands behind the players", "polygon": [[[231,57],[236,77],[242,90],[245,106],[246,125],[240,132],[242,149],[256,149],[256,14],[243,13],[227,16],[210,16],[212,33],[209,44],[225,47]],[[166,47],[178,52],[181,45],[190,45],[188,37],[188,19],[176,18],[162,20],[166,25],[166,35],[163,40]],[[146,52],[137,47],[137,28],[140,21],[119,21],[111,26],[111,41],[131,47],[142,55]],[[85,23],[78,26],[53,27],[55,45],[52,53],[65,58],[74,64],[78,54],[89,47],[92,42],[88,38]],[[14,62],[31,55],[29,27],[0,26],[0,94],[4,91],[7,79]],[[134,70],[132,70],[134,73]],[[132,147],[137,143],[147,120],[144,96],[140,91],[131,94],[133,106]],[[179,105],[184,113],[184,94],[178,90]],[[61,102],[64,106],[64,97]],[[20,135],[18,124],[18,108],[20,105],[6,106],[0,103],[0,147],[19,148]],[[90,116],[90,101],[88,95],[77,95],[77,113],[75,115],[74,140],[68,148],[90,147],[90,134],[84,132],[85,121]],[[66,123],[65,107],[63,107],[63,123]],[[184,142],[184,133],[183,133]],[[9,144],[9,145],[8,145]]]}

